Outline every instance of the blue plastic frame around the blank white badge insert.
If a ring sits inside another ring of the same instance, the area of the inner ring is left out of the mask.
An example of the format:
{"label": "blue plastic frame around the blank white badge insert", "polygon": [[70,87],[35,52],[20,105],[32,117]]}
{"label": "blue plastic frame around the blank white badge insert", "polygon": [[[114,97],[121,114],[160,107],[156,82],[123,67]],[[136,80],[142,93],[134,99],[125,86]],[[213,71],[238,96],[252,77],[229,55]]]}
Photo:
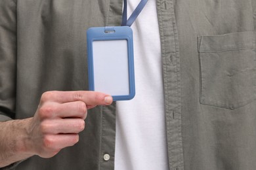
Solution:
{"label": "blue plastic frame around the blank white badge insert", "polygon": [[[133,59],[133,30],[128,26],[117,26],[117,27],[91,27],[87,30],[87,60],[88,60],[88,73],[89,73],[89,90],[100,91],[95,88],[95,63],[94,63],[94,42],[109,42],[109,41],[127,41],[127,65],[128,65],[128,80],[129,84],[124,84],[126,88],[129,88],[129,92],[125,94],[112,94],[114,101],[130,100],[135,97],[135,73],[134,73],[134,59]],[[104,49],[103,49],[104,50]],[[101,57],[101,56],[100,56]],[[103,58],[104,56],[102,56]],[[105,56],[108,57],[108,56]],[[111,63],[111,67],[115,67],[118,63]],[[125,65],[125,67],[127,67]],[[100,68],[97,68],[100,69]],[[113,88],[118,88],[117,84],[113,83]],[[123,85],[121,85],[123,86]],[[127,89],[128,90],[128,89]],[[107,90],[108,91],[108,90]],[[111,91],[111,90],[110,90]]]}

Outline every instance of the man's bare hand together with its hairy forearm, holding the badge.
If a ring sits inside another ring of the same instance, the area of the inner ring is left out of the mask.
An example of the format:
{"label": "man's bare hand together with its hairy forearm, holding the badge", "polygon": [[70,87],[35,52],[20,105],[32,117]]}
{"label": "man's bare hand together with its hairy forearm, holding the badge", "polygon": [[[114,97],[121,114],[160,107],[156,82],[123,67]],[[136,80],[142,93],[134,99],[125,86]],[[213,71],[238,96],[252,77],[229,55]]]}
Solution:
{"label": "man's bare hand together with its hairy forearm, holding the badge", "polygon": [[[85,128],[87,109],[111,103],[110,95],[99,92],[43,93],[33,118],[0,123],[0,127],[12,126],[8,129],[19,131],[18,136],[15,136],[17,134],[12,131],[4,133],[0,129],[0,139],[7,139],[9,143],[15,141],[14,148],[9,148],[8,143],[6,146],[0,145],[0,167],[33,155],[51,158],[62,148],[73,146],[79,141],[78,133]],[[5,164],[2,165],[1,162]]]}

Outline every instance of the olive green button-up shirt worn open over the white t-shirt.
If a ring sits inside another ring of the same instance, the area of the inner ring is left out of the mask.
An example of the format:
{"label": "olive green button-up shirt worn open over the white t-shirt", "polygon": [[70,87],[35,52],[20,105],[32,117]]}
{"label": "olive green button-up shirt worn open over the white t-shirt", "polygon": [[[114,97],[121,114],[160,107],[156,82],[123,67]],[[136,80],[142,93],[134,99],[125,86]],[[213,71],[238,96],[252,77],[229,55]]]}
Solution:
{"label": "olive green button-up shirt worn open over the white t-shirt", "polygon": [[[169,169],[255,169],[256,1],[156,1]],[[45,91],[88,90],[86,30],[121,13],[122,0],[0,0],[1,121],[33,116]],[[16,169],[114,169],[115,117],[89,110],[79,143]]]}

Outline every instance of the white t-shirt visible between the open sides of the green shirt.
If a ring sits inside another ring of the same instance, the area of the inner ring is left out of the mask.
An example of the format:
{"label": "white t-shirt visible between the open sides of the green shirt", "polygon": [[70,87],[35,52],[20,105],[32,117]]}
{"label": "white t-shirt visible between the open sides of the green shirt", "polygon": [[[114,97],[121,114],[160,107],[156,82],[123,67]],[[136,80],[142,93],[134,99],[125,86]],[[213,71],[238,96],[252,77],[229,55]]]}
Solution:
{"label": "white t-shirt visible between the open sides of the green shirt", "polygon": [[[128,18],[139,2],[128,1]],[[131,101],[117,101],[115,169],[165,170],[167,139],[156,0],[148,0],[131,27],[136,95]]]}

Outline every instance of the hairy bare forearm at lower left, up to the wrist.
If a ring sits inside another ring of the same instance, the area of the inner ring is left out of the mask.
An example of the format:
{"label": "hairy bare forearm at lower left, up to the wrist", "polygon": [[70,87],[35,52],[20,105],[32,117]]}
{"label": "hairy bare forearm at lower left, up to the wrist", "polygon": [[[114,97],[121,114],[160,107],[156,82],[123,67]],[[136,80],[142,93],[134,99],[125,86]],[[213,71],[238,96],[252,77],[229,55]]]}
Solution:
{"label": "hairy bare forearm at lower left, up to the wrist", "polygon": [[28,127],[32,118],[0,122],[0,167],[33,156],[28,150]]}

